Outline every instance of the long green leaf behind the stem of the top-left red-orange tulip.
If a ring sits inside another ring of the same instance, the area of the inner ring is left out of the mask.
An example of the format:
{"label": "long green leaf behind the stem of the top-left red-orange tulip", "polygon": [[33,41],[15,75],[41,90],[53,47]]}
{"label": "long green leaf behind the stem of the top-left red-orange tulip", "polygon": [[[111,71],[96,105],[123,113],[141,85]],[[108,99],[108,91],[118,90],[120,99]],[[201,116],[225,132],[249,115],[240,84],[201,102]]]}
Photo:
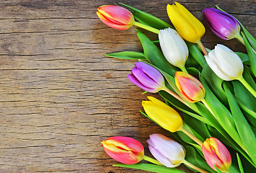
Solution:
{"label": "long green leaf behind the stem of the top-left red-orange tulip", "polygon": [[123,3],[119,3],[119,4],[122,4],[123,6],[126,6],[128,9],[131,9],[131,12],[133,13],[133,16],[135,17],[135,19],[137,19],[138,22],[141,22],[144,25],[149,25],[150,27],[154,27],[159,30],[163,30],[164,28],[167,28],[167,27],[171,27],[172,29],[174,29],[174,27],[167,24],[167,22],[164,22],[162,19],[154,17],[151,14],[148,14],[146,12],[142,12],[141,10],[133,8],[132,6],[128,6]]}

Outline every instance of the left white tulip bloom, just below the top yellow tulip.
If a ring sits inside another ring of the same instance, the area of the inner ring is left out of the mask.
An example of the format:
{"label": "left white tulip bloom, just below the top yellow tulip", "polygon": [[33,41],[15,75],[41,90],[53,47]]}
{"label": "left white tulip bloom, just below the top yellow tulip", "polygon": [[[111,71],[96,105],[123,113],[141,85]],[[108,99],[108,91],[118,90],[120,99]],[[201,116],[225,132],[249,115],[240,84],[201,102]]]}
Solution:
{"label": "left white tulip bloom, just below the top yellow tulip", "polygon": [[164,57],[173,66],[182,68],[187,61],[188,49],[185,41],[171,28],[159,31],[159,43]]}

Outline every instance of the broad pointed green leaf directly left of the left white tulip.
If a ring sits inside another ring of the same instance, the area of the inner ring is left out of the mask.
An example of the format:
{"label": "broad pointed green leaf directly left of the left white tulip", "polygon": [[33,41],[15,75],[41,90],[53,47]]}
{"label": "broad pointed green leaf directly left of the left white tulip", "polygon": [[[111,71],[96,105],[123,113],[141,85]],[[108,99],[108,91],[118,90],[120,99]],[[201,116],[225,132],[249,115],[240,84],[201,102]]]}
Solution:
{"label": "broad pointed green leaf directly left of the left white tulip", "polygon": [[161,50],[149,40],[146,35],[137,30],[137,35],[139,40],[141,40],[141,45],[144,49],[144,56],[146,59],[154,64],[156,67],[160,68],[162,71],[170,74],[171,76],[175,75],[175,71],[178,70],[175,66],[172,66],[165,58]]}

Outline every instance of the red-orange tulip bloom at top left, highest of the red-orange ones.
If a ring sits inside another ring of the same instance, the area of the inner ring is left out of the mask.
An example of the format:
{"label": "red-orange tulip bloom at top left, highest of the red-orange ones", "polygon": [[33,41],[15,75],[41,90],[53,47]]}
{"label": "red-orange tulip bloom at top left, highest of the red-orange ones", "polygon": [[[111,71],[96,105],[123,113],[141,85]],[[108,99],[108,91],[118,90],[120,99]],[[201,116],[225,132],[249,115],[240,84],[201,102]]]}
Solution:
{"label": "red-orange tulip bloom at top left, highest of the red-orange ones", "polygon": [[100,6],[96,13],[105,25],[117,30],[127,30],[134,23],[133,14],[121,6]]}

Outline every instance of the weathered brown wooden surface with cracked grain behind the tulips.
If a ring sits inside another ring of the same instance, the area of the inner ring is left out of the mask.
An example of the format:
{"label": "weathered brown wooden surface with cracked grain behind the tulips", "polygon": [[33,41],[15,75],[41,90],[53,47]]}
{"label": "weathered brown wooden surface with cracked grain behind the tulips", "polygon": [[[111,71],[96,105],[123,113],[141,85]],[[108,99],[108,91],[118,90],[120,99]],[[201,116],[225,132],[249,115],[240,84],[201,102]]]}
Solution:
{"label": "weathered brown wooden surface with cracked grain behind the tulips", "polygon": [[[128,81],[136,61],[104,56],[142,51],[134,27],[114,30],[97,18],[98,6],[117,2],[0,1],[0,172],[142,172],[112,167],[117,161],[100,144],[130,136],[146,148],[151,133],[167,135],[138,112],[148,94]],[[173,1],[120,2],[169,22],[166,6]],[[201,21],[203,8],[218,4],[256,35],[254,0],[180,3]],[[237,40],[206,29],[208,48],[223,43],[245,52]]]}

